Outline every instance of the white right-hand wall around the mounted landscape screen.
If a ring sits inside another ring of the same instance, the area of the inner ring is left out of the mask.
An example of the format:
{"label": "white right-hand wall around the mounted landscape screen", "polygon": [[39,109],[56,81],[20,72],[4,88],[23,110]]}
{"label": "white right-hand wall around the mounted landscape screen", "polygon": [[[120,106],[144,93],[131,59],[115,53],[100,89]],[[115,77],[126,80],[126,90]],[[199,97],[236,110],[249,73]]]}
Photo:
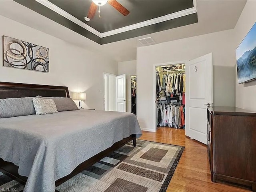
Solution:
{"label": "white right-hand wall around the mounted landscape screen", "polygon": [[[256,1],[248,0],[244,6],[244,10],[236,27],[234,28],[234,50],[238,47],[240,42],[244,39],[250,28],[256,22]],[[255,37],[256,38],[256,37]],[[236,69],[236,66],[234,67]],[[237,82],[237,73],[235,74],[236,84],[236,107],[244,108],[256,112],[256,80],[244,84]]]}

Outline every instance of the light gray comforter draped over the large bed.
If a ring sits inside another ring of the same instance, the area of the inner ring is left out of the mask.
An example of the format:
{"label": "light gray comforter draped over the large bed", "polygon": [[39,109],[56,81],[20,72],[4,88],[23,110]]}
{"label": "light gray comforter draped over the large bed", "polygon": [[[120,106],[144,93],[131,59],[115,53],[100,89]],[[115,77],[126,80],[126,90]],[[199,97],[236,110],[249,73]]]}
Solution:
{"label": "light gray comforter draped over the large bed", "polygon": [[0,158],[27,176],[24,192],[54,192],[55,181],[115,142],[137,134],[134,114],[92,110],[0,119]]}

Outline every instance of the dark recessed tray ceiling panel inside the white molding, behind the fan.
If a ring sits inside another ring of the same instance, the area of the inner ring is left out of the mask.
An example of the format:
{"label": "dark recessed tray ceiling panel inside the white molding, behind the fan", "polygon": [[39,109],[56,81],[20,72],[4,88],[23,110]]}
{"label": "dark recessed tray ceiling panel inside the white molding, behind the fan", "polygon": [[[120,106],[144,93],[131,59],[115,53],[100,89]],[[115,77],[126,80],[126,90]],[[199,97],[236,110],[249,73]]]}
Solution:
{"label": "dark recessed tray ceiling panel inside the white molding, behind the fan", "polygon": [[193,8],[192,0],[119,0],[120,4],[130,11],[130,14],[123,16],[107,3],[100,8],[101,18],[97,12],[90,22],[86,22],[84,17],[87,15],[92,1],[49,1],[100,33]]}

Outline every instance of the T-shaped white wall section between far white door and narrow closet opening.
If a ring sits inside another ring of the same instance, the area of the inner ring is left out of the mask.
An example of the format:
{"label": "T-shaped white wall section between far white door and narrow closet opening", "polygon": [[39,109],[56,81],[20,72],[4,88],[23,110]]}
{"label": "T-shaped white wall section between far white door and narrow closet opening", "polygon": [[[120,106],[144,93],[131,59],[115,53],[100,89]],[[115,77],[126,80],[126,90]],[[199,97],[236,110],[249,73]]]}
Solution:
{"label": "T-shaped white wall section between far white door and narrow closet opening", "polygon": [[131,75],[136,75],[136,60],[132,61],[124,61],[118,63],[118,75],[126,74],[126,112],[131,111],[131,85],[130,85],[130,77]]}

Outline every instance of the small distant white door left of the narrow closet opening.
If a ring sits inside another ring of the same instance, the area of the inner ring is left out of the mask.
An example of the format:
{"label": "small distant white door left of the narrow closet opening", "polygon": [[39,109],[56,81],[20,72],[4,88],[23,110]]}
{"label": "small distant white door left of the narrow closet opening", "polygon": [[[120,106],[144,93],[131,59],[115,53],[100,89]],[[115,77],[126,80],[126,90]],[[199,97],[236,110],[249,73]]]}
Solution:
{"label": "small distant white door left of the narrow closet opening", "polygon": [[116,111],[126,112],[126,75],[116,76]]}

